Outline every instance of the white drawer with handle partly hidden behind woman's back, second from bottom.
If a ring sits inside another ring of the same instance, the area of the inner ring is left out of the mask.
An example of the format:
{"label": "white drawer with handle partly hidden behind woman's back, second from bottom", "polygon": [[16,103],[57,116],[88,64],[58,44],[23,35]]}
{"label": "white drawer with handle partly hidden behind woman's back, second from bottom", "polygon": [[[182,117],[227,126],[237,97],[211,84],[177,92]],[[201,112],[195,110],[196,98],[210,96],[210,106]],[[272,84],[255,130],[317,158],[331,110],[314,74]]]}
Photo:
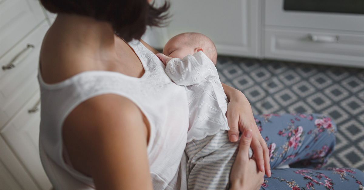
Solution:
{"label": "white drawer with handle partly hidden behind woman's back, second from bottom", "polygon": [[[1,130],[1,135],[42,190],[51,189],[39,157],[40,92],[37,90],[20,112]],[[29,112],[37,108],[36,112]]]}

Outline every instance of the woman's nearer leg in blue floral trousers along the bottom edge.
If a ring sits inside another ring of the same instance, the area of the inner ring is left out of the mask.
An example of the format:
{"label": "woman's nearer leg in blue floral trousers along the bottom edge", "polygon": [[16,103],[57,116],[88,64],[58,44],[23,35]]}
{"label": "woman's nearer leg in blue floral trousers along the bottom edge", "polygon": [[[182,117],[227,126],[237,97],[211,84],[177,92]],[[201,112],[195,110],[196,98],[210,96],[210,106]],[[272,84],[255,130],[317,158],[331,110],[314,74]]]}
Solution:
{"label": "woman's nearer leg in blue floral trousers along the bottom edge", "polygon": [[262,190],[363,190],[364,174],[358,169],[273,169],[264,177]]}

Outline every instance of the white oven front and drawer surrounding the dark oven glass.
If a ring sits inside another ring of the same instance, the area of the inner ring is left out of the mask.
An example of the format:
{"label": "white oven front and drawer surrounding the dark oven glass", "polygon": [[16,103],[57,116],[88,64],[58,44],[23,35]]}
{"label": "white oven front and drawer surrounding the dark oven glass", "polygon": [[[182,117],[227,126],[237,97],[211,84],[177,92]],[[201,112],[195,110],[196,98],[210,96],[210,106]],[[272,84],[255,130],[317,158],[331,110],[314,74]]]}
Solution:
{"label": "white oven front and drawer surrounding the dark oven glass", "polygon": [[263,57],[364,67],[362,14],[287,11],[265,0]]}

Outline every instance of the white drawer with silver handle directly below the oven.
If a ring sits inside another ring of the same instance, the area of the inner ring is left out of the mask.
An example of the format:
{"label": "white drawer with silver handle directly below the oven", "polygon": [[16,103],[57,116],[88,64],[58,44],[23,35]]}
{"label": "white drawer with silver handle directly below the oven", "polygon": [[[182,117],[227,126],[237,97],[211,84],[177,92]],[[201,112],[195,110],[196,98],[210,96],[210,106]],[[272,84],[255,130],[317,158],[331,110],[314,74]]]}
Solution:
{"label": "white drawer with silver handle directly below the oven", "polygon": [[266,27],[266,58],[364,67],[364,34]]}

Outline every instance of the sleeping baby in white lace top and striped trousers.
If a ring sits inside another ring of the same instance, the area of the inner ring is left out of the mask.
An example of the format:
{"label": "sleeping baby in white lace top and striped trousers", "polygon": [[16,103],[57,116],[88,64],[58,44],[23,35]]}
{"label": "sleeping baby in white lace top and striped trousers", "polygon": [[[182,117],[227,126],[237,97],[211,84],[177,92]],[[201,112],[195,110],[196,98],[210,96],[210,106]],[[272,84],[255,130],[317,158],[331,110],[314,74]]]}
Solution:
{"label": "sleeping baby in white lace top and striped trousers", "polygon": [[[200,33],[182,33],[167,42],[163,54],[156,55],[171,80],[186,88],[188,189],[227,189],[239,141],[230,142],[227,135],[228,102],[215,68],[214,43]],[[250,149],[250,158],[252,154]]]}

